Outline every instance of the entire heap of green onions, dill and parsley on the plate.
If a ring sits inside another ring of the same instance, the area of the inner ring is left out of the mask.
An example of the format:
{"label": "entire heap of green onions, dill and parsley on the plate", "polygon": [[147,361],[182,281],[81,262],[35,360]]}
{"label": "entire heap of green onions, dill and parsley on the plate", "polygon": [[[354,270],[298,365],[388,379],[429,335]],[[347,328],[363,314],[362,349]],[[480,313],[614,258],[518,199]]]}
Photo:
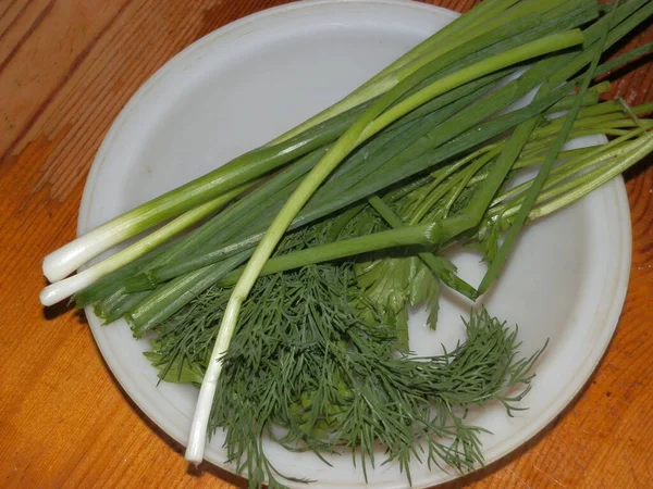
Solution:
{"label": "entire heap of green onions, dill and parsley on the plate", "polygon": [[[257,442],[273,425],[293,450],[358,448],[364,469],[381,442],[409,477],[417,441],[429,463],[472,468],[480,428],[457,409],[509,412],[521,394],[505,392],[528,385],[537,354],[517,360],[515,335],[483,311],[466,343],[416,361],[397,353],[407,308],[429,301],[434,325],[441,285],[478,299],[525,224],[653,151],[653,106],[600,102],[609,86],[592,86],[651,51],[601,61],[652,13],[645,0],[485,0],[295,129],[46,256],[41,302],[74,296],[136,337],[156,331],[160,377],[201,385],[186,459],[223,428],[252,487],[278,484]],[[612,139],[564,150],[597,134]],[[454,243],[483,250],[478,287],[442,256]]]}

